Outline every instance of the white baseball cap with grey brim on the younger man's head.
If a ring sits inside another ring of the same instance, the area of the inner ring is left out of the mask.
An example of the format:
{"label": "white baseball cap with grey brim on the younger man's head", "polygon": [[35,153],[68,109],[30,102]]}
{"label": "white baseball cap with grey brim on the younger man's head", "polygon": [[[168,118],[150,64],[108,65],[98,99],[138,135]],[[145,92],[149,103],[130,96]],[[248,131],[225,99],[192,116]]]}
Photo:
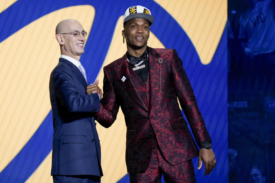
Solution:
{"label": "white baseball cap with grey brim on the younger man's head", "polygon": [[151,12],[148,8],[137,5],[131,6],[127,8],[123,17],[123,24],[131,19],[142,18],[146,19],[150,23],[150,27],[152,23],[154,23],[154,17],[151,15]]}

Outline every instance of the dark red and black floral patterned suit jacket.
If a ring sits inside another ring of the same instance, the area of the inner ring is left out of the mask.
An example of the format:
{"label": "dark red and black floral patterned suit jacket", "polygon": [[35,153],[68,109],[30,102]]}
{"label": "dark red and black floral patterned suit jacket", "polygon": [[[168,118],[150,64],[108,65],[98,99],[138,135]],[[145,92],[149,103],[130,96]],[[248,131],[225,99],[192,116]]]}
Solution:
{"label": "dark red and black floral patterned suit jacket", "polygon": [[156,143],[166,160],[173,165],[198,156],[198,148],[182,116],[178,100],[197,143],[211,141],[176,50],[148,47],[148,51],[146,85],[129,67],[126,54],[103,68],[103,98],[100,111],[95,115],[97,121],[108,128],[121,107],[127,126],[128,172],[144,172],[147,169],[152,147]]}

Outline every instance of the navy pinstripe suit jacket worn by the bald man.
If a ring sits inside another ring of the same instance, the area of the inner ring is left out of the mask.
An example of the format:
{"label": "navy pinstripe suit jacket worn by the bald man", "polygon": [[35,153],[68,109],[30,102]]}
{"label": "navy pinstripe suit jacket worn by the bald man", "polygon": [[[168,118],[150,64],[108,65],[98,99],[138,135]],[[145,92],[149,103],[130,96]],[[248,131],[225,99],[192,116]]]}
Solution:
{"label": "navy pinstripe suit jacket worn by the bald man", "polygon": [[87,95],[86,87],[79,69],[60,58],[49,87],[54,125],[51,175],[103,176],[93,117],[100,99],[97,93]]}

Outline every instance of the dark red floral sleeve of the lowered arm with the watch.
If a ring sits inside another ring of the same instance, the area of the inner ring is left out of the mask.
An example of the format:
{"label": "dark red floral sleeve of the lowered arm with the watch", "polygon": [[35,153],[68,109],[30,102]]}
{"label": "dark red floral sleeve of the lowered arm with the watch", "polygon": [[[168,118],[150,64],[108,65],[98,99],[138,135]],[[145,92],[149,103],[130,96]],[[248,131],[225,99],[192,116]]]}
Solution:
{"label": "dark red floral sleeve of the lowered arm with the watch", "polygon": [[172,68],[174,89],[197,144],[200,145],[201,141],[211,142],[201,112],[199,111],[193,89],[183,69],[182,61],[178,57],[175,49],[173,49],[172,53]]}

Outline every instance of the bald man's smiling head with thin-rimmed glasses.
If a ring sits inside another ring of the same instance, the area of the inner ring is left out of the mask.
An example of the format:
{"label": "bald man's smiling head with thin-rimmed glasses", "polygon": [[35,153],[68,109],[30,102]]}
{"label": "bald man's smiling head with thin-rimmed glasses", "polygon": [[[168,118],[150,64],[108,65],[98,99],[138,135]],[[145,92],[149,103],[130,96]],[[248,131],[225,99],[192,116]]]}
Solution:
{"label": "bald man's smiling head with thin-rimmed glasses", "polygon": [[[65,20],[61,23],[60,33],[56,34],[56,39],[60,44],[60,50],[62,55],[72,57],[79,61],[80,55],[84,52],[84,44],[86,38],[81,34],[84,31],[82,25],[76,20]],[[61,33],[73,33],[75,31],[80,32],[78,37],[73,34],[61,34]]]}

